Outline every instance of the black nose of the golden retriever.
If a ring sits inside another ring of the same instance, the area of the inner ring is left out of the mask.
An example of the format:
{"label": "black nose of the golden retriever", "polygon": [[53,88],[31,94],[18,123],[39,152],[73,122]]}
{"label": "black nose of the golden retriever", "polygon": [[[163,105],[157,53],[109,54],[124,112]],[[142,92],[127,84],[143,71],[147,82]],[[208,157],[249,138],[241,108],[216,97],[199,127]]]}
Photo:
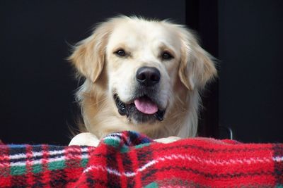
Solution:
{"label": "black nose of the golden retriever", "polygon": [[153,86],[160,80],[160,72],[154,67],[141,67],[137,70],[137,81],[144,86]]}

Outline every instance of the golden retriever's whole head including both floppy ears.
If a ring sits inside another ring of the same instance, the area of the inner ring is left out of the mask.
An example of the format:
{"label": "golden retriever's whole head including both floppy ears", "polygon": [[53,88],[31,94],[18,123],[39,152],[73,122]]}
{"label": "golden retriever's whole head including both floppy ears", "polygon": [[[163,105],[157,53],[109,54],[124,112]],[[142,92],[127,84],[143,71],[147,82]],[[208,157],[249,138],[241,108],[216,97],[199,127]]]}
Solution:
{"label": "golden retriever's whole head including both floppy ears", "polygon": [[142,125],[178,111],[172,106],[180,91],[201,89],[216,75],[211,56],[189,30],[141,18],[98,25],[69,59],[93,84],[104,80],[117,115]]}

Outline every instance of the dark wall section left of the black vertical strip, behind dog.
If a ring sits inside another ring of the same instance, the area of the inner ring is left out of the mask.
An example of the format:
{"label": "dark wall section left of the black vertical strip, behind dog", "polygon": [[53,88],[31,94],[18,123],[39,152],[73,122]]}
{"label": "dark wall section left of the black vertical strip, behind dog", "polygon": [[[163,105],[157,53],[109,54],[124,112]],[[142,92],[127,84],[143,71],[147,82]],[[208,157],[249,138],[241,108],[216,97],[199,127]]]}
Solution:
{"label": "dark wall section left of the black vertical strip, behind dog", "polygon": [[0,139],[69,143],[79,111],[68,44],[119,13],[185,24],[185,1],[0,1]]}

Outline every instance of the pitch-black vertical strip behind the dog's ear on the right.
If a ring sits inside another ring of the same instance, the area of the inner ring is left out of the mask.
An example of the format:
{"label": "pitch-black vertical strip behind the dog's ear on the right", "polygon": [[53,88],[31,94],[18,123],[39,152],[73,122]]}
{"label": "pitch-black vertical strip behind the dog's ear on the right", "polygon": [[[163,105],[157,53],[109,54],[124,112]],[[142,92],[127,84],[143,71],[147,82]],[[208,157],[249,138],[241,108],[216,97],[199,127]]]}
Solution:
{"label": "pitch-black vertical strip behind the dog's ear on the right", "polygon": [[[197,31],[201,46],[218,58],[218,4],[217,1],[186,1],[186,24]],[[218,67],[217,67],[218,69]],[[219,137],[218,79],[207,84],[202,92],[198,136]],[[226,136],[226,135],[225,135]]]}

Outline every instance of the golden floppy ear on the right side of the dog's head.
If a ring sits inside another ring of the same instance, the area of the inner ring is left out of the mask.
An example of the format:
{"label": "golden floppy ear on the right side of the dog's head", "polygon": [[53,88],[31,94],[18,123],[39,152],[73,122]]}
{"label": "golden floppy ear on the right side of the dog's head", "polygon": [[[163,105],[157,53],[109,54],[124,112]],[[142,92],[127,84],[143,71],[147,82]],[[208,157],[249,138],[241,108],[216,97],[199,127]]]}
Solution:
{"label": "golden floppy ear on the right side of the dog's head", "polygon": [[196,87],[202,89],[217,75],[213,58],[202,49],[189,30],[181,28],[180,37],[183,42],[178,72],[180,80],[189,90]]}

